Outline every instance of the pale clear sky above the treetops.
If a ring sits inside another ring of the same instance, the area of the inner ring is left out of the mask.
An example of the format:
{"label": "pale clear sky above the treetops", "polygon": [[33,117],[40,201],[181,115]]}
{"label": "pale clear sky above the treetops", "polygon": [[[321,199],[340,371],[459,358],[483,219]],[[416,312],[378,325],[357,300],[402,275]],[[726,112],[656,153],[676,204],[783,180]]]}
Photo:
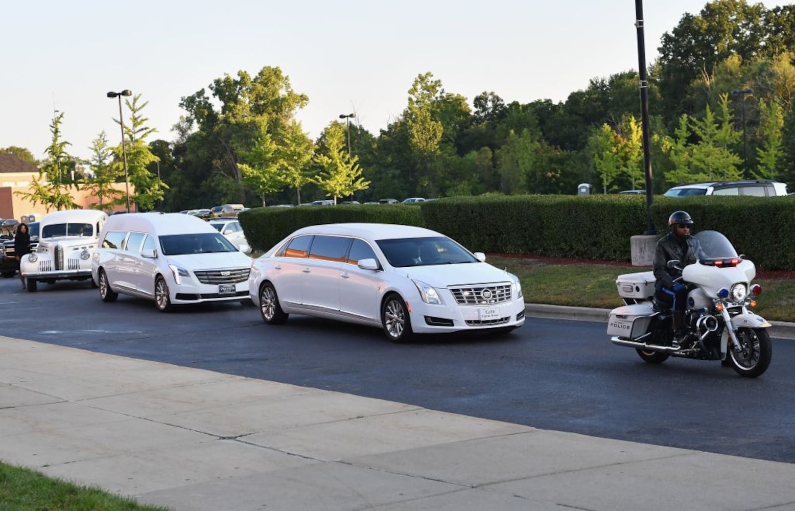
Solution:
{"label": "pale clear sky above the treetops", "polygon": [[[644,2],[647,64],[662,34],[705,3]],[[482,91],[564,101],[591,78],[638,68],[633,0],[42,0],[8,2],[2,14],[0,147],[37,158],[54,110],[73,155],[89,157],[102,130],[118,144],[118,100],[106,94],[122,89],[149,102],[149,141],[172,141],[180,98],[241,69],[281,68],[308,95],[298,118],[316,138],[351,112],[378,134],[424,72],[471,105]]]}

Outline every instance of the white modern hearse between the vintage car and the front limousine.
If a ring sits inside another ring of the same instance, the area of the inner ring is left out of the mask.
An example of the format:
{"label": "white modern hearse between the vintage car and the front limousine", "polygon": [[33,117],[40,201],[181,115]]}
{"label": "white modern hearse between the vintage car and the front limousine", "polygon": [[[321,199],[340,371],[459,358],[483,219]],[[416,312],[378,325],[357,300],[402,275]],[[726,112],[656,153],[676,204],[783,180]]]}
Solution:
{"label": "white modern hearse between the vintage car and the front limousine", "polygon": [[251,258],[195,216],[113,215],[99,244],[91,275],[105,302],[122,293],[168,311],[173,304],[248,300]]}

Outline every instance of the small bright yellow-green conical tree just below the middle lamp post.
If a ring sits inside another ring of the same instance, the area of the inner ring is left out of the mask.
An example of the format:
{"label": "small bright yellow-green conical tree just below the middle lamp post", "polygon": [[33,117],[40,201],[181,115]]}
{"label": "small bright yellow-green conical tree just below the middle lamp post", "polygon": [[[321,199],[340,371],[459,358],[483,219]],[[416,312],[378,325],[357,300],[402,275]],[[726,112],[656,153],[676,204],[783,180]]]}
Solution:
{"label": "small bright yellow-green conical tree just below the middle lamp post", "polygon": [[315,157],[321,170],[314,182],[334,199],[334,203],[337,203],[337,197],[353,195],[370,186],[370,181],[362,177],[362,169],[357,163],[359,158],[348,157],[344,136],[344,126],[332,122],[321,134],[320,153]]}

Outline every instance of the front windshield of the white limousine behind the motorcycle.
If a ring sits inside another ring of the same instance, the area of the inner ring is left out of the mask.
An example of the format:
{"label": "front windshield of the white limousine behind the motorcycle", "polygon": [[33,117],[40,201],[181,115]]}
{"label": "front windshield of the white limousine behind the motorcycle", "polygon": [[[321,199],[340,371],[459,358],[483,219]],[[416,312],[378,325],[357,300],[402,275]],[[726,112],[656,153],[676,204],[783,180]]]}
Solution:
{"label": "front windshield of the white limousine behind the motorcycle", "polygon": [[386,260],[396,268],[479,262],[463,246],[445,236],[380,239],[376,243]]}

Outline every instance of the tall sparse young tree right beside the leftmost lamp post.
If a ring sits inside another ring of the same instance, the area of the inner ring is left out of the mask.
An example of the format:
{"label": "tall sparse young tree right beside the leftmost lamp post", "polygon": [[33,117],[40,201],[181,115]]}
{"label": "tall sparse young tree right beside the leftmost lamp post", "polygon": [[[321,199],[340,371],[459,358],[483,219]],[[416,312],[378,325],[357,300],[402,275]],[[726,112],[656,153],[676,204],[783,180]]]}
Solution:
{"label": "tall sparse young tree right beside the leftmost lamp post", "polygon": [[[130,109],[130,122],[124,125],[124,134],[127,137],[127,173],[130,177],[130,184],[134,185],[134,193],[130,196],[130,200],[136,204],[136,209],[148,211],[154,208],[157,201],[163,199],[163,192],[169,187],[147,168],[158,158],[149,149],[146,137],[157,130],[146,126],[149,118],[143,117],[142,110],[149,102],[139,104],[140,99],[141,95],[138,94],[133,96],[131,102],[129,99],[125,100],[127,108]],[[117,124],[121,123],[121,120],[114,119],[114,121]],[[116,154],[114,172],[118,172],[119,168],[121,168],[122,174],[124,172],[124,149],[121,144],[114,149]]]}

